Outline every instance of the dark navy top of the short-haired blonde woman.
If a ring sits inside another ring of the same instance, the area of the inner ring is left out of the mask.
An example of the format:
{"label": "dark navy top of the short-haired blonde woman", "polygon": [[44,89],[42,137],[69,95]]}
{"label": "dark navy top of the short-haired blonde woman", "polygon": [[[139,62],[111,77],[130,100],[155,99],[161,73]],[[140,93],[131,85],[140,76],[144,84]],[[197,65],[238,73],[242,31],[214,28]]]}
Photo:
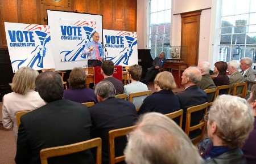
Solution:
{"label": "dark navy top of the short-haired blonde woman", "polygon": [[172,113],[180,108],[179,98],[172,90],[160,90],[145,98],[138,114],[155,111],[162,114]]}

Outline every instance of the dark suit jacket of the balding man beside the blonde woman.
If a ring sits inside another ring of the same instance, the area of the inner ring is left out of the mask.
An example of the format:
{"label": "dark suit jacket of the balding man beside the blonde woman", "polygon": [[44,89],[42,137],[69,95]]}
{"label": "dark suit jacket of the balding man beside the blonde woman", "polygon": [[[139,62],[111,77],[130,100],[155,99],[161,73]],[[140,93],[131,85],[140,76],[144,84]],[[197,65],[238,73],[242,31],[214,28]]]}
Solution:
{"label": "dark suit jacket of the balding man beside the blonde woman", "polygon": [[[183,129],[185,130],[186,123],[186,115],[188,107],[200,105],[202,103],[207,102],[207,94],[204,90],[200,89],[196,85],[188,87],[183,92],[177,93],[177,97],[179,97],[181,109],[183,109]],[[191,115],[191,126],[197,124],[204,113],[194,113]]]}

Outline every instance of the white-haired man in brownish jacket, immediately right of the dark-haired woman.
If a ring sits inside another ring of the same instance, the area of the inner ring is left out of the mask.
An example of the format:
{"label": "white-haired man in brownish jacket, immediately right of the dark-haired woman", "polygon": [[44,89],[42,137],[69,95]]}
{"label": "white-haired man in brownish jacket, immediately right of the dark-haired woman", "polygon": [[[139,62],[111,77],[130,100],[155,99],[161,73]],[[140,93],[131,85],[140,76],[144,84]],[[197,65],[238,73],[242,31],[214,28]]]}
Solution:
{"label": "white-haired man in brownish jacket, immediately right of the dark-haired woman", "polygon": [[[242,74],[238,71],[240,68],[240,63],[238,63],[237,61],[231,61],[228,63],[228,71],[229,71],[229,83],[232,85],[232,90],[233,90],[233,86],[236,83],[242,83],[245,80],[243,80],[243,76]],[[242,88],[238,88],[237,89],[237,93],[241,93],[242,92]]]}

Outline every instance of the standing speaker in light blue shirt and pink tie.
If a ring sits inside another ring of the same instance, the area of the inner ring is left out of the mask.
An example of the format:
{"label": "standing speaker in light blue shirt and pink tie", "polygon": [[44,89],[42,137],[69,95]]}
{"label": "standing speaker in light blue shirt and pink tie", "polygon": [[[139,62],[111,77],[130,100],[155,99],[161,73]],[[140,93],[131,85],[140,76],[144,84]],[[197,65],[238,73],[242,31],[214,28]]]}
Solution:
{"label": "standing speaker in light blue shirt and pink tie", "polygon": [[88,59],[88,67],[100,66],[104,58],[104,51],[102,45],[98,40],[100,35],[98,32],[92,34],[93,41],[85,44],[83,54]]}

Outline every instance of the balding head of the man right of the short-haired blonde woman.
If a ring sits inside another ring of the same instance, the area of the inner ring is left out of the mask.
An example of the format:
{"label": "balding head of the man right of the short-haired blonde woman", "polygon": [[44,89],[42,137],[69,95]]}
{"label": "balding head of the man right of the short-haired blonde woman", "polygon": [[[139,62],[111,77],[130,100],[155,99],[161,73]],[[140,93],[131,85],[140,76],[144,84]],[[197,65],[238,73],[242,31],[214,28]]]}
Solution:
{"label": "balding head of the man right of the short-haired blonde woman", "polygon": [[197,67],[188,67],[182,74],[181,84],[197,84],[202,79],[201,72]]}

